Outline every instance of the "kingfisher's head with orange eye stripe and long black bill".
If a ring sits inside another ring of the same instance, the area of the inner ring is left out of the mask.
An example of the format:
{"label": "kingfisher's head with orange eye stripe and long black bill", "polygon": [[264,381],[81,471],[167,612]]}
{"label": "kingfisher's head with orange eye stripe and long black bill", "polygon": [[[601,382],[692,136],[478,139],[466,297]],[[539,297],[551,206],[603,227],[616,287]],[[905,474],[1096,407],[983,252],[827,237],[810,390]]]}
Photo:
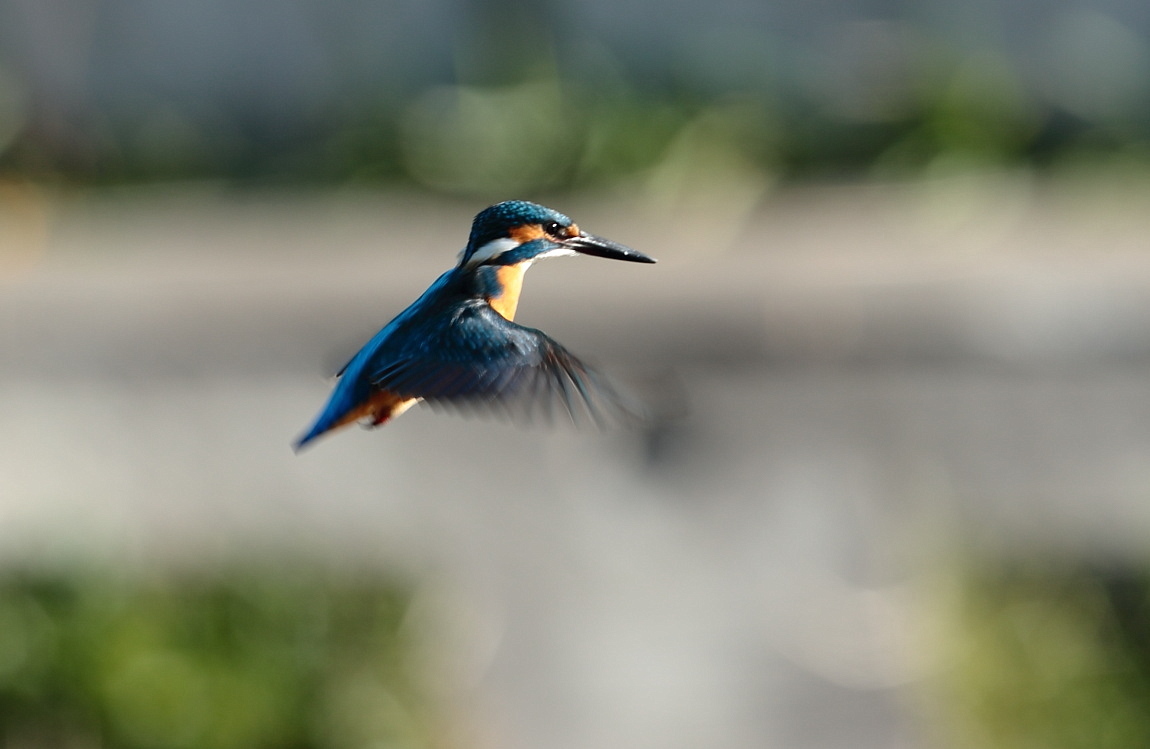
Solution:
{"label": "kingfisher's head with orange eye stripe and long black bill", "polygon": [[506,266],[570,254],[654,262],[642,252],[582,231],[558,211],[527,200],[506,200],[475,216],[459,265]]}

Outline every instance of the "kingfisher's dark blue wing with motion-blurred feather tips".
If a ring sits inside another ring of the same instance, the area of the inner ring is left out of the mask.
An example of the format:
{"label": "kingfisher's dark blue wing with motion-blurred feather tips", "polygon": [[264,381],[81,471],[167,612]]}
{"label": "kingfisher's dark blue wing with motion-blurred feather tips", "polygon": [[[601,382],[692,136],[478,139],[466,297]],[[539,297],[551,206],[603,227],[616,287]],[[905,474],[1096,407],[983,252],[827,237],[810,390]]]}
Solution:
{"label": "kingfisher's dark blue wing with motion-blurred feather tips", "polygon": [[604,375],[539,330],[486,304],[462,307],[421,331],[417,344],[370,373],[371,384],[432,406],[575,423],[641,419],[642,408]]}

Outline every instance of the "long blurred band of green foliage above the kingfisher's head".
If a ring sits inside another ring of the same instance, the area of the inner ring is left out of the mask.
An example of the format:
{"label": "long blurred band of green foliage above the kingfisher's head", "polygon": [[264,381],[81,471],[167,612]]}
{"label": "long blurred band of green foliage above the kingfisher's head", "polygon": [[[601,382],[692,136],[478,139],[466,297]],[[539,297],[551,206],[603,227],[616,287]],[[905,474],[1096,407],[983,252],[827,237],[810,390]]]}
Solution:
{"label": "long blurred band of green foliage above the kingfisher's head", "polygon": [[[940,159],[1042,166],[1081,151],[1082,143],[1105,156],[1145,140],[1143,121],[1119,132],[1057,116],[1000,56],[931,54],[929,64],[922,62],[927,72],[900,90],[898,106],[877,113],[864,106],[865,92],[852,108],[767,86],[719,93],[597,87],[547,70],[501,84],[431,86],[404,101],[348,102],[328,121],[278,140],[245,135],[224,115],[204,120],[168,105],[146,127],[117,127],[106,117],[80,151],[41,140],[34,129],[15,129],[0,143],[0,175],[89,183],[390,183],[497,198],[643,182],[680,155],[684,139],[772,177],[913,176]],[[716,174],[728,166],[716,165]]]}

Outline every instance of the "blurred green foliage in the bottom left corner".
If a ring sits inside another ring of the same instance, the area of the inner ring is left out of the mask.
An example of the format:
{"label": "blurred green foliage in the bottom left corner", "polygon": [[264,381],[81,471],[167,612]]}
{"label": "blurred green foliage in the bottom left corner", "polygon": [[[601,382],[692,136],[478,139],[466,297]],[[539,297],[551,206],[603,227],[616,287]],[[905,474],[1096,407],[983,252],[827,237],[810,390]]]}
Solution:
{"label": "blurred green foliage in the bottom left corner", "polygon": [[408,596],[314,571],[0,579],[7,746],[423,747]]}

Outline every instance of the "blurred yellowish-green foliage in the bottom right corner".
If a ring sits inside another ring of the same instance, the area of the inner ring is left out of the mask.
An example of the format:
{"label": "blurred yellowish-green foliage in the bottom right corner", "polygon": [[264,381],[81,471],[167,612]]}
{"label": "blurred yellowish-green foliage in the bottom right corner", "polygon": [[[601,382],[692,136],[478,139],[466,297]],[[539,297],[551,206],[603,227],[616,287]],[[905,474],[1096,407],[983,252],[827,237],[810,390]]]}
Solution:
{"label": "blurred yellowish-green foliage in the bottom right corner", "polygon": [[943,641],[960,747],[1150,746],[1150,575],[1057,564],[972,574]]}

